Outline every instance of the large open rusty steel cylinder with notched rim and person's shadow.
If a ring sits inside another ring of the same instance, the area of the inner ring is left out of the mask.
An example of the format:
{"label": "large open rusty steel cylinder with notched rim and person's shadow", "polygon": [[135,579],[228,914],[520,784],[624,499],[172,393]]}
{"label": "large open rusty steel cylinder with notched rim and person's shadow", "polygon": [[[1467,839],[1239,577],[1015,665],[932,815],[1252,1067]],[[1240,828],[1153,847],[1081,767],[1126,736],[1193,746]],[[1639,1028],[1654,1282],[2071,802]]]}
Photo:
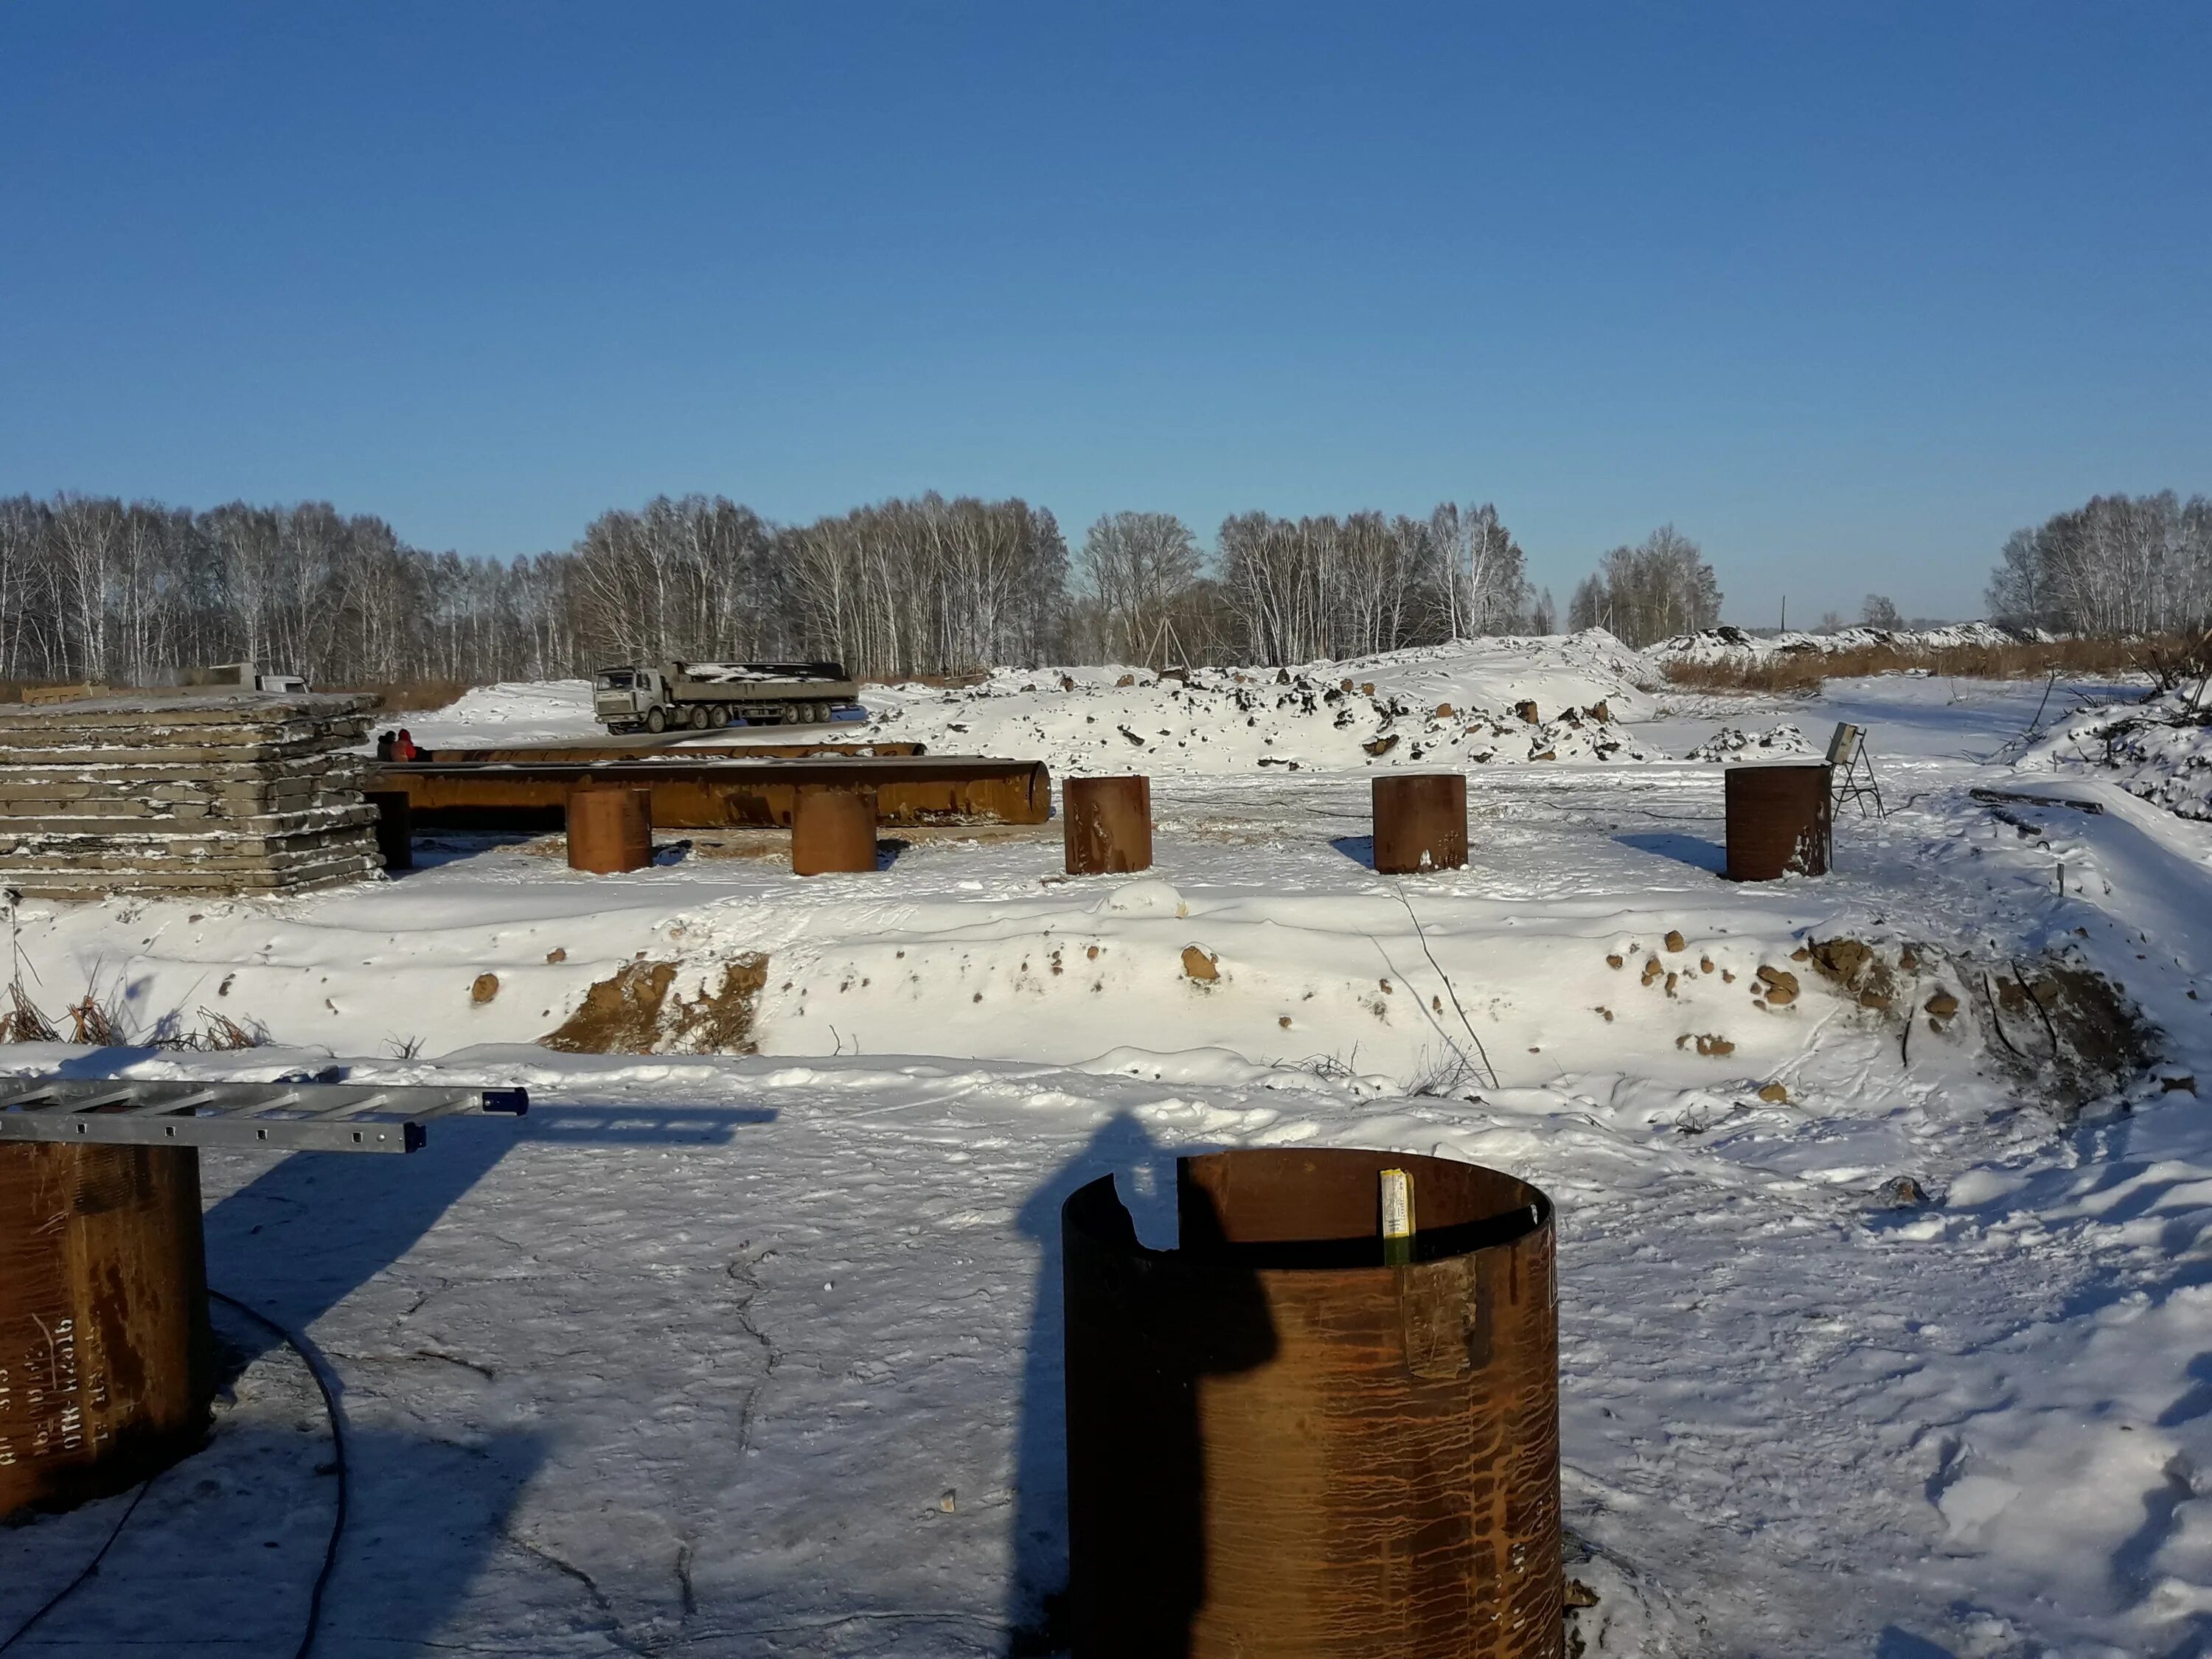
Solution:
{"label": "large open rusty steel cylinder with notched rim and person's shadow", "polygon": [[[1413,1186],[1385,1265],[1383,1170]],[[1557,1659],[1551,1199],[1436,1157],[1179,1166],[1062,1208],[1077,1659]]]}

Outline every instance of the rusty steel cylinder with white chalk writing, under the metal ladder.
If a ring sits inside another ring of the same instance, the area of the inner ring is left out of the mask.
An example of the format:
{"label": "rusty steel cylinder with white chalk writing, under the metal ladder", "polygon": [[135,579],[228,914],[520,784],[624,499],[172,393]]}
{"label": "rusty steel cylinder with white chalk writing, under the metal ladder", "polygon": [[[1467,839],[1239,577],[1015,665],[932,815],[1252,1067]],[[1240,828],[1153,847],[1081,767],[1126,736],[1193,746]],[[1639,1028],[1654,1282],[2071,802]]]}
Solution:
{"label": "rusty steel cylinder with white chalk writing, under the metal ladder", "polygon": [[0,1515],[175,1462],[212,1389],[199,1152],[0,1144]]}

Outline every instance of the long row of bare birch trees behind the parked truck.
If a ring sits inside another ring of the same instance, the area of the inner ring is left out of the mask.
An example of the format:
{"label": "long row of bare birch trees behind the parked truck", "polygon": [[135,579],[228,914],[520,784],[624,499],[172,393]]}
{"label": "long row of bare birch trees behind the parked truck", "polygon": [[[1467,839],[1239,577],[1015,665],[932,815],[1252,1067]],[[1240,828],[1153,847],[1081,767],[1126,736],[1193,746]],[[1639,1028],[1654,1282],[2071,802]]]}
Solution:
{"label": "long row of bare birch trees behind the parked truck", "polygon": [[1493,504],[1221,524],[1108,513],[1073,557],[1024,500],[887,500],[772,524],[721,495],[465,560],[327,502],[208,511],[0,498],[0,679],[173,684],[257,661],[321,686],[549,679],[615,661],[834,657],[863,677],[998,664],[1356,657],[1548,633]]}

